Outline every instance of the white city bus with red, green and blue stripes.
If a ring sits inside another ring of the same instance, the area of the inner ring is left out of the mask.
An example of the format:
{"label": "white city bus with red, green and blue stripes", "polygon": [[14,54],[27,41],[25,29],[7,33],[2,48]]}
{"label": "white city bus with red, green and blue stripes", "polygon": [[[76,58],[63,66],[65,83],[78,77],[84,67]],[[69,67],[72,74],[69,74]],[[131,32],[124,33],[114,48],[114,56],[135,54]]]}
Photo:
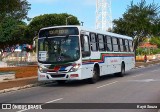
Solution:
{"label": "white city bus with red, green and blue stripes", "polygon": [[58,83],[95,83],[103,75],[122,77],[135,66],[132,37],[76,25],[40,29],[37,58],[38,80]]}

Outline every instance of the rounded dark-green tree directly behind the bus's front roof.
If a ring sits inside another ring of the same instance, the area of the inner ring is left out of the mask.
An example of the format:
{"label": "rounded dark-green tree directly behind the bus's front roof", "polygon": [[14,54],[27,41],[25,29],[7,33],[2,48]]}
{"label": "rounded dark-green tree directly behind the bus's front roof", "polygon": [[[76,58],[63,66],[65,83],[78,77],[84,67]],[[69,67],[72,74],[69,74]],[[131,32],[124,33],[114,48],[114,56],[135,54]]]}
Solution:
{"label": "rounded dark-green tree directly behind the bus's front roof", "polygon": [[77,17],[62,13],[62,14],[44,14],[37,17],[34,17],[30,24],[28,25],[28,35],[29,37],[35,36],[35,32],[38,32],[43,27],[50,27],[50,26],[58,26],[58,25],[65,25],[66,18],[72,16],[68,19],[68,25],[79,25],[79,21]]}

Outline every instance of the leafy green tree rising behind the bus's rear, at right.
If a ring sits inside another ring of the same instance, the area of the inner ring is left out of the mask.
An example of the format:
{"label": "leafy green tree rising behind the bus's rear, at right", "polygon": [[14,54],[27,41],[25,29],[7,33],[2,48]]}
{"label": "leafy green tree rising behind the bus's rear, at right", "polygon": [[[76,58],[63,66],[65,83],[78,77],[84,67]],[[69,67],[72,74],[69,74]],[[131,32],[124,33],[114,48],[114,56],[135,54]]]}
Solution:
{"label": "leafy green tree rising behind the bus's rear, at right", "polygon": [[146,4],[145,0],[140,3],[128,6],[127,11],[122,18],[114,20],[114,32],[132,36],[134,38],[134,49],[137,48],[138,43],[142,42],[145,37],[158,35],[159,30],[159,9],[158,4]]}

